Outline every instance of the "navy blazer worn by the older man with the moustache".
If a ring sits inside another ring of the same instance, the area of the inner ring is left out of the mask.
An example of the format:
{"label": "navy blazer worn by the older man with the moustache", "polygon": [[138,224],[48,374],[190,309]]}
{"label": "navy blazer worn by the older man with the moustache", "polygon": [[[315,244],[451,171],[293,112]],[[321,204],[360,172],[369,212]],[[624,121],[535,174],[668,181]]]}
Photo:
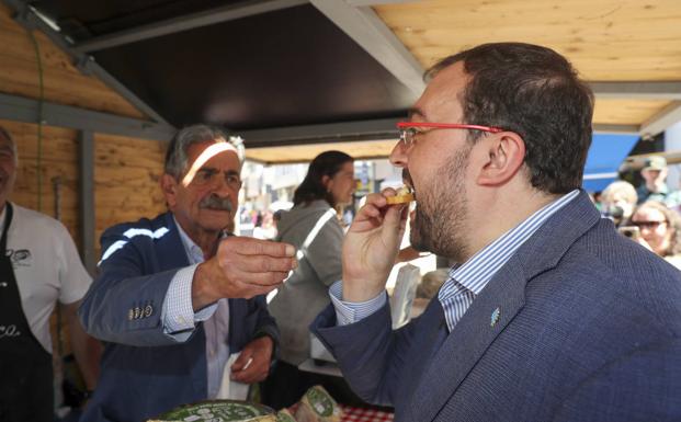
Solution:
{"label": "navy blazer worn by the older man with the moustache", "polygon": [[[172,214],[140,219],[102,235],[100,274],[86,295],[80,319],[105,342],[97,390],[81,421],[138,422],[207,396],[205,333],[198,324],[184,343],[163,334],[168,286],[189,260]],[[279,339],[263,296],[229,299],[229,350],[260,334]]]}

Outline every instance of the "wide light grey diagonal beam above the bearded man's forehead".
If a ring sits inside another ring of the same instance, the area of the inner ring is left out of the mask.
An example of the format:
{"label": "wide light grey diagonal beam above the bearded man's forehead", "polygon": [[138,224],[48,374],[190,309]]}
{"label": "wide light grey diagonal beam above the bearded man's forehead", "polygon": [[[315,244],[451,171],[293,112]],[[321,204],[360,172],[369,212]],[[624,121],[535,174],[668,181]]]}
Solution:
{"label": "wide light grey diagonal beam above the bearded man's forehead", "polygon": [[423,92],[423,68],[372,8],[355,8],[345,0],[310,2],[408,87],[413,100]]}

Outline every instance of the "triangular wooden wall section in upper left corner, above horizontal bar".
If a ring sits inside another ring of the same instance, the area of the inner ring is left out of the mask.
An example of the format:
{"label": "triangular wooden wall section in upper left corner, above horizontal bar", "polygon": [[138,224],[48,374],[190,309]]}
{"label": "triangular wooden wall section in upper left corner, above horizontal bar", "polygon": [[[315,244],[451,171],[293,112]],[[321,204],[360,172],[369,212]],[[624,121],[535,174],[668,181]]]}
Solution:
{"label": "triangular wooden wall section in upper left corner, above horizontal bar", "polygon": [[[67,54],[43,33],[34,31],[43,62],[45,100],[83,109],[145,118],[125,99],[99,79],[83,76]],[[37,99],[39,73],[34,44],[29,33],[0,3],[0,92]]]}

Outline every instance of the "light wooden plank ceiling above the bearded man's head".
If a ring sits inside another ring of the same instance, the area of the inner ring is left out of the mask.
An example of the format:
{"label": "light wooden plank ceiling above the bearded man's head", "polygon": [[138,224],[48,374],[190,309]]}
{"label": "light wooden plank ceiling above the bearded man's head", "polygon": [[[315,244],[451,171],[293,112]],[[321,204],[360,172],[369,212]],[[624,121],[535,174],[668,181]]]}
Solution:
{"label": "light wooden plank ceiling above the bearded man's head", "polygon": [[[679,0],[432,0],[375,10],[423,68],[517,41],[554,48],[588,81],[681,81]],[[598,99],[594,123],[640,125],[668,104]]]}

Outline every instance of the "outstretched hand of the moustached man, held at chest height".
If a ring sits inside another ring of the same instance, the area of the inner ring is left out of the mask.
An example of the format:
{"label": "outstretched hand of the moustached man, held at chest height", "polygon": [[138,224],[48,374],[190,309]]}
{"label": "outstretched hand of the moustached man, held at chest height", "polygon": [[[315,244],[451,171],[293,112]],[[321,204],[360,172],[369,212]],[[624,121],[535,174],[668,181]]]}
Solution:
{"label": "outstretched hand of the moustached man, held at chest height", "polygon": [[250,299],[275,289],[297,266],[288,243],[245,237],[223,239],[215,256],[196,267],[192,306],[202,309],[222,298]]}

